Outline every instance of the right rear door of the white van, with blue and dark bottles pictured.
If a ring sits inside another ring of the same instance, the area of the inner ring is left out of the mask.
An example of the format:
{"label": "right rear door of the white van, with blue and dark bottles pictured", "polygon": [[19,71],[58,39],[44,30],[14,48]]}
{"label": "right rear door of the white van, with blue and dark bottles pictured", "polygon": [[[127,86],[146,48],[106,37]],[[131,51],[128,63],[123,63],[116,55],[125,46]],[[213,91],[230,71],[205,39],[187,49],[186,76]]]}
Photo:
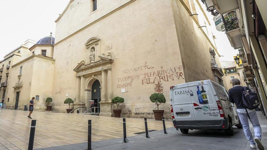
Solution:
{"label": "right rear door of the white van, with blue and dark bottles pictured", "polygon": [[[197,125],[221,125],[221,117],[212,87],[208,80],[188,83]],[[199,90],[198,90],[199,89]],[[199,99],[200,98],[200,99]],[[204,101],[204,103],[202,101]]]}

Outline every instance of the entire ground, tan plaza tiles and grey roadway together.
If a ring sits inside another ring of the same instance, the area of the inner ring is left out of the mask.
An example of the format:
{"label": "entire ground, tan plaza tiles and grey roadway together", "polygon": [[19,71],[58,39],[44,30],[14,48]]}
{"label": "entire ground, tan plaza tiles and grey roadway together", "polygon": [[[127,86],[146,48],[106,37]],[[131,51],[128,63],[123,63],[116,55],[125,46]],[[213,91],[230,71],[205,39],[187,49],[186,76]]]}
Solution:
{"label": "entire ground, tan plaza tiles and grey roadway together", "polygon": [[[1,110],[0,150],[25,150],[28,148],[31,119],[28,111]],[[267,145],[267,120],[258,112],[262,126],[262,142]],[[166,121],[168,134],[162,131],[162,122],[148,120],[151,138],[145,138],[144,120],[126,118],[127,138],[129,143],[123,143],[122,118],[65,114],[52,112],[33,112],[37,120],[34,148],[38,150],[85,150],[87,148],[87,120],[92,120],[93,150],[251,150],[242,129],[234,127],[235,135],[227,136],[223,131],[193,130],[188,135],[176,131],[171,121]],[[252,125],[250,126],[252,129]],[[253,130],[252,130],[253,132]]]}

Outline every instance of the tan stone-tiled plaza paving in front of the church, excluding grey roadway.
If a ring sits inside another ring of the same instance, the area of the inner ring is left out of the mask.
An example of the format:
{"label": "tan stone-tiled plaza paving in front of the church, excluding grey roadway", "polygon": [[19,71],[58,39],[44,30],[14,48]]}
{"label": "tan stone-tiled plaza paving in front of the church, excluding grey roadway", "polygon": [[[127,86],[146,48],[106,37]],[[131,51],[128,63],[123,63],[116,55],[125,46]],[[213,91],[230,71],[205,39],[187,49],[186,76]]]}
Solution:
{"label": "tan stone-tiled plaza paving in front of the church, excluding grey roadway", "polygon": [[[29,111],[1,109],[0,111],[0,150],[25,150],[28,148],[31,119]],[[46,148],[87,142],[88,119],[92,120],[92,141],[123,137],[122,118],[33,112],[36,119],[34,148]],[[126,118],[127,136],[143,132],[144,119]],[[148,119],[149,130],[161,130],[162,122]],[[173,127],[166,121],[166,127]]]}

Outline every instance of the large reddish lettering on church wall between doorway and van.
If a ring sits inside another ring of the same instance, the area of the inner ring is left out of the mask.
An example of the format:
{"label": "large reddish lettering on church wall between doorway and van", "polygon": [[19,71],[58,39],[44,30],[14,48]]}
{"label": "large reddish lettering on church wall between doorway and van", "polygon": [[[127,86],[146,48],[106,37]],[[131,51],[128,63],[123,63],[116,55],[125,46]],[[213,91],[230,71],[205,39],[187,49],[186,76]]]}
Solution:
{"label": "large reddish lettering on church wall between doorway and van", "polygon": [[[131,87],[133,81],[138,81],[140,85],[152,84],[155,85],[154,90],[157,93],[163,93],[163,86],[161,82],[169,82],[179,79],[184,79],[184,74],[182,72],[183,65],[178,65],[176,67],[164,68],[164,66],[159,66],[159,70],[156,70],[154,66],[149,66],[147,62],[144,65],[135,68],[129,68],[123,70],[123,74],[136,73],[134,75],[125,75],[123,77],[117,78],[117,88]],[[145,70],[149,72],[144,72]],[[143,72],[143,73],[139,73]]]}

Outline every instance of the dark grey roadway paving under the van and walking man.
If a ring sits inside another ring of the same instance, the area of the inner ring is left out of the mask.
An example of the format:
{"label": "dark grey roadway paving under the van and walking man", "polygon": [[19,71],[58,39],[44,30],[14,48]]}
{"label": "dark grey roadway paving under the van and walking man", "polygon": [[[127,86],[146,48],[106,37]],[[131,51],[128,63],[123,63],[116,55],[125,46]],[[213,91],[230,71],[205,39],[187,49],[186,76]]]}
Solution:
{"label": "dark grey roadway paving under the van and walking man", "polygon": [[[262,126],[262,143],[267,148],[267,120],[258,112]],[[148,126],[149,127],[149,126]],[[250,125],[252,129],[252,125]],[[127,137],[130,143],[123,143],[123,138],[92,142],[93,150],[256,150],[249,146],[243,129],[234,127],[234,136],[227,136],[223,131],[193,130],[189,134],[182,134],[174,127],[167,129],[165,135],[162,130],[150,132],[151,138],[145,135]],[[253,130],[252,130],[253,132]],[[58,147],[41,148],[37,150],[86,150],[87,143],[71,144]]]}

